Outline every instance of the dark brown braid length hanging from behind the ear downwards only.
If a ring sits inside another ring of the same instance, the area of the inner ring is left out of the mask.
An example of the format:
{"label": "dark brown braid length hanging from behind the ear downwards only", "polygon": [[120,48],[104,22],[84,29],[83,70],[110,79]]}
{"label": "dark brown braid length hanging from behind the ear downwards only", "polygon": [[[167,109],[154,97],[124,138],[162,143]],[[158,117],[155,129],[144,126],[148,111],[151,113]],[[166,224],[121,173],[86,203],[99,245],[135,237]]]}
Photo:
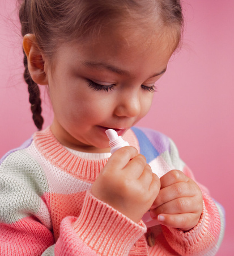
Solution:
{"label": "dark brown braid length hanging from behind the ear downwards only", "polygon": [[27,56],[24,52],[24,80],[28,84],[29,102],[31,103],[32,119],[37,127],[41,130],[44,119],[41,116],[41,98],[39,86],[34,82],[28,71]]}

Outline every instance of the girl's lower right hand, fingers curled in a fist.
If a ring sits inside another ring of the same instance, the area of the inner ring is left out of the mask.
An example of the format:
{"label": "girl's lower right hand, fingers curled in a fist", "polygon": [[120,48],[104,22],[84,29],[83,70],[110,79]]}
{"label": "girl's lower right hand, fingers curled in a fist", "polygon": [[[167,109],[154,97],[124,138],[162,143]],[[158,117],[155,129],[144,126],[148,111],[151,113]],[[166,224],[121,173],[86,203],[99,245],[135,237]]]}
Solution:
{"label": "girl's lower right hand, fingers curled in a fist", "polygon": [[178,170],[160,178],[161,189],[151,207],[151,217],[160,224],[188,231],[197,225],[203,209],[198,185]]}

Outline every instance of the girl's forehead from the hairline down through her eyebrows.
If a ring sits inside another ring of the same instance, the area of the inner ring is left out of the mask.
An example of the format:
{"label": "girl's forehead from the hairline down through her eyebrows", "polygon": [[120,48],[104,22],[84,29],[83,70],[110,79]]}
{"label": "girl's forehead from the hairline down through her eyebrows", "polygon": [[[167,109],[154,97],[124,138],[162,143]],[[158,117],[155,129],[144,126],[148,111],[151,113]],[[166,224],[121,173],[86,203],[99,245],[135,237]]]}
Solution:
{"label": "girl's forehead from the hairline down through her eyebrows", "polygon": [[[71,42],[64,48],[57,63],[67,60],[75,68],[106,69],[126,75],[127,71],[135,77],[139,72],[146,71],[146,76],[154,75],[167,67],[172,52],[166,47],[166,38],[149,34],[147,37],[133,33],[125,36],[105,34],[99,40],[87,40],[85,43]],[[170,47],[171,48],[171,47]],[[64,51],[63,51],[64,50]],[[126,73],[126,72],[125,72]]]}

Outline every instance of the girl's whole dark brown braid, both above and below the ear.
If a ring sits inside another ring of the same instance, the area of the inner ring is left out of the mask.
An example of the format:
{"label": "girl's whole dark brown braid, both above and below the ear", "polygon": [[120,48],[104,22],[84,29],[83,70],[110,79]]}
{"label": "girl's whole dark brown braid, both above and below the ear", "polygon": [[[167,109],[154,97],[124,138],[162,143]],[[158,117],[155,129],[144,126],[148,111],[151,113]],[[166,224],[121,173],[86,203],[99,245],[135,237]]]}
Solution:
{"label": "girl's whole dark brown braid, both above and below the ear", "polygon": [[[28,20],[28,5],[29,2],[26,0],[22,2],[22,5],[19,10],[19,19],[22,24],[22,36],[32,33],[32,29],[29,26]],[[28,92],[29,92],[29,102],[31,103],[31,111],[32,111],[32,119],[37,127],[37,129],[41,130],[44,119],[41,116],[41,99],[40,99],[40,89],[39,86],[34,82],[31,78],[31,75],[28,71],[28,60],[27,56],[24,52],[24,80],[28,84]]]}

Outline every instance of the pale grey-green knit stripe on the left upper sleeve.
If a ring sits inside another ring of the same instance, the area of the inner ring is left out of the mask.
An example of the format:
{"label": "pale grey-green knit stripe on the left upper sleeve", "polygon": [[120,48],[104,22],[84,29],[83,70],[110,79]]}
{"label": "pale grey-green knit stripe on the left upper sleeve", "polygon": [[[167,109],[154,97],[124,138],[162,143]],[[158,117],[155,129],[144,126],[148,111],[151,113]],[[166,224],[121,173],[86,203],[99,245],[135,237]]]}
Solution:
{"label": "pale grey-green knit stripe on the left upper sleeve", "polygon": [[1,165],[1,221],[12,223],[37,214],[45,190],[42,168],[27,152],[18,150],[9,155]]}

